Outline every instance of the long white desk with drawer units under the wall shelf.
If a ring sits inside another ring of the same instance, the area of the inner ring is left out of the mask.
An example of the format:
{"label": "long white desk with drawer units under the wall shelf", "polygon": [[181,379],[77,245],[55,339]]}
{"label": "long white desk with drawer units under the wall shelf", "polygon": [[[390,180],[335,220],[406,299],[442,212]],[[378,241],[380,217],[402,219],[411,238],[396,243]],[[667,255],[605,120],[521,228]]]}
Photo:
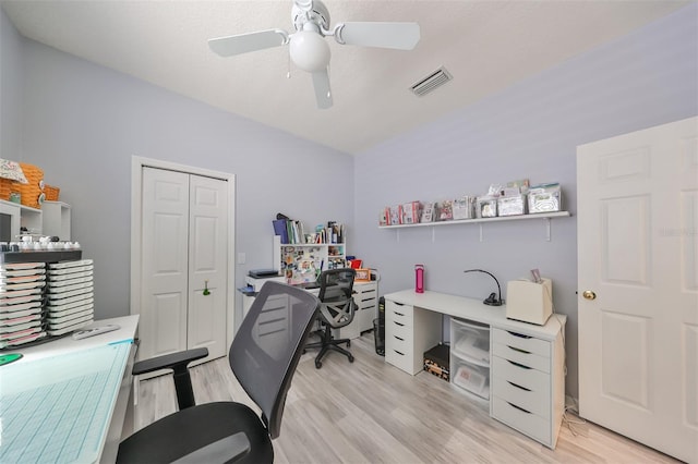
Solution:
{"label": "long white desk with drawer units under the wall shelf", "polygon": [[442,342],[442,315],[489,326],[490,416],[555,448],[565,405],[566,316],[534,326],[507,319],[506,306],[429,291],[405,290],[385,301],[385,361],[411,375],[422,371],[424,352]]}

